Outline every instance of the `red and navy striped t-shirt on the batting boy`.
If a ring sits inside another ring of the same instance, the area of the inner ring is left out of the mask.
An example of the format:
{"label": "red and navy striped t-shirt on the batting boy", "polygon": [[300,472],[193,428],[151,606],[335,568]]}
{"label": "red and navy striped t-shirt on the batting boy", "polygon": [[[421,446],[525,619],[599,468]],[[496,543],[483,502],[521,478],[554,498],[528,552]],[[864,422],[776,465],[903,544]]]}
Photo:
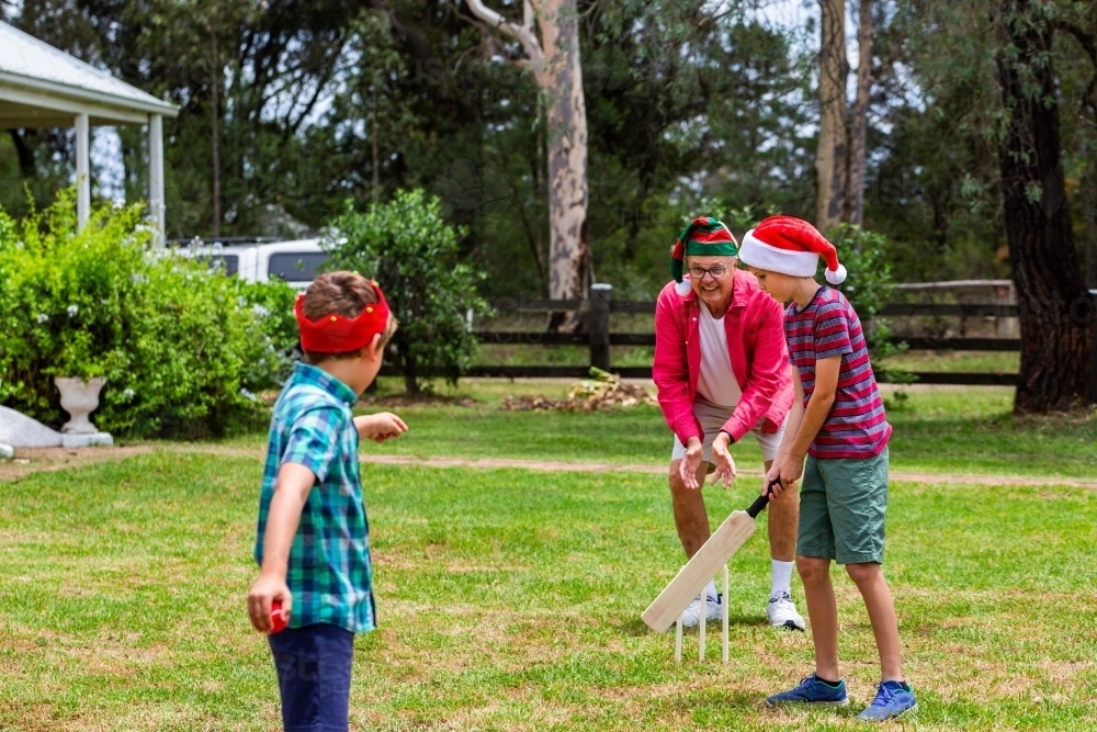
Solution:
{"label": "red and navy striped t-shirt on the batting boy", "polygon": [[807,307],[796,307],[792,303],[784,311],[784,337],[804,385],[805,407],[815,391],[816,359],[841,356],[834,405],[807,452],[818,459],[880,454],[892,429],[853,306],[837,290],[822,286]]}

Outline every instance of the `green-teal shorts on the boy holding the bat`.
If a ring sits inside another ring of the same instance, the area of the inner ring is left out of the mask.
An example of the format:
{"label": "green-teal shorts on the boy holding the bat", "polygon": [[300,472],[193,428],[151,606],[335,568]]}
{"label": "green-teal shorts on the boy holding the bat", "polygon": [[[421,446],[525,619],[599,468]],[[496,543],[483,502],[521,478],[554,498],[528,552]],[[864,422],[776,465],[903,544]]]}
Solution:
{"label": "green-teal shorts on the boy holding the bat", "polygon": [[884,561],[887,448],[874,458],[808,455],[800,488],[796,553],[838,564]]}

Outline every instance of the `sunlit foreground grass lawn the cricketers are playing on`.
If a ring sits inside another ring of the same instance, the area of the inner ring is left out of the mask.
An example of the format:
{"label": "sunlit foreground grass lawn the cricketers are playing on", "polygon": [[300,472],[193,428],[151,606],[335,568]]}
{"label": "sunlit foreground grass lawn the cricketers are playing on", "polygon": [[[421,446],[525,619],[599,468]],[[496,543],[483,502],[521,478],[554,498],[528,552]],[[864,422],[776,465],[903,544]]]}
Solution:
{"label": "sunlit foreground grass lawn the cricketers are playing on", "polygon": [[[426,414],[414,431],[460,431]],[[536,424],[510,429],[566,443]],[[627,431],[604,416],[562,428],[577,424]],[[666,451],[665,435],[647,439]],[[0,729],[275,729],[273,667],[244,604],[260,471],[165,451],[0,484]],[[836,571],[853,705],[764,708],[812,658],[808,635],[764,623],[764,521],[732,563],[731,664],[716,626],[709,662],[689,634],[690,660],[674,663],[672,637],[640,621],[682,561],[659,475],[363,476],[382,627],[357,641],[354,729],[828,730],[855,727],[871,697],[871,631]],[[754,486],[706,494],[720,517]],[[918,729],[1097,728],[1095,527],[1092,491],[892,485],[885,568]],[[803,607],[798,581],[794,594]]]}

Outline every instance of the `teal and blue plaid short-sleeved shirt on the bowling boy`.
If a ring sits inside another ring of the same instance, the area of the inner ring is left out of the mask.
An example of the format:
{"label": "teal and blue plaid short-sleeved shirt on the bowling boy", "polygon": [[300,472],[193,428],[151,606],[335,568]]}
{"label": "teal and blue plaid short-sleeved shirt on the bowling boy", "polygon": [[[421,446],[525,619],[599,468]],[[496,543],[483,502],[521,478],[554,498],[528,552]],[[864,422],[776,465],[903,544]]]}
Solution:
{"label": "teal and blue plaid short-sleeved shirt on the bowling boy", "polygon": [[326,622],[361,633],[376,627],[370,525],[351,413],[357,399],[328,372],[297,363],[274,404],[259,497],[256,561],[260,566],[279,469],[291,462],[316,475],[290,550],[285,581],[293,593],[291,628]]}

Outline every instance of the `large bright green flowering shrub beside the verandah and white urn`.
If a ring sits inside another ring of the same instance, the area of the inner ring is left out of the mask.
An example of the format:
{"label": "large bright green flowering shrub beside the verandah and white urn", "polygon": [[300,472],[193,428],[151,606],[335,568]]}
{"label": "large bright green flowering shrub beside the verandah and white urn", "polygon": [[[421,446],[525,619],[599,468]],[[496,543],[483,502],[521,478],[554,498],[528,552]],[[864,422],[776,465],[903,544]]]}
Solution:
{"label": "large bright green flowering shrub beside the verandah and white urn", "polygon": [[93,418],[112,432],[222,433],[255,414],[251,392],[287,368],[293,292],[150,240],[140,206],[100,207],[77,230],[71,190],[23,221],[0,211],[0,403],[57,425],[52,378],[105,376]]}

